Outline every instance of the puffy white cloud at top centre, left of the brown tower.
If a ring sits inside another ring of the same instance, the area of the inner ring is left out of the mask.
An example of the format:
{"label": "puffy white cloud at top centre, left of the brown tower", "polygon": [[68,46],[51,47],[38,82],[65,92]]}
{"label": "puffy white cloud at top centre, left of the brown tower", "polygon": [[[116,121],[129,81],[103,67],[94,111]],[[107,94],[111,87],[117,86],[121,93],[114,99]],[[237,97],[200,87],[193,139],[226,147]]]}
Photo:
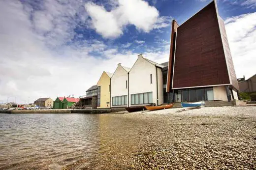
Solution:
{"label": "puffy white cloud at top centre, left of the brown tower", "polygon": [[116,38],[123,34],[128,24],[149,32],[153,28],[167,27],[164,17],[154,6],[143,0],[118,0],[118,6],[107,11],[103,6],[88,2],[85,9],[92,18],[92,26],[104,38]]}

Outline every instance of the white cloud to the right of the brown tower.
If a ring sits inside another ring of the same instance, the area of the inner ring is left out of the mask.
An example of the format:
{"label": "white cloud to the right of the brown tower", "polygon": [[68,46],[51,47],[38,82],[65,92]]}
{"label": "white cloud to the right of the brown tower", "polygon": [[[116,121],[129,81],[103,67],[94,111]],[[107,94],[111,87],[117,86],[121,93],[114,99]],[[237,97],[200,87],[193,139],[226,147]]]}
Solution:
{"label": "white cloud to the right of the brown tower", "polygon": [[225,28],[236,76],[247,78],[256,73],[256,12],[225,20]]}

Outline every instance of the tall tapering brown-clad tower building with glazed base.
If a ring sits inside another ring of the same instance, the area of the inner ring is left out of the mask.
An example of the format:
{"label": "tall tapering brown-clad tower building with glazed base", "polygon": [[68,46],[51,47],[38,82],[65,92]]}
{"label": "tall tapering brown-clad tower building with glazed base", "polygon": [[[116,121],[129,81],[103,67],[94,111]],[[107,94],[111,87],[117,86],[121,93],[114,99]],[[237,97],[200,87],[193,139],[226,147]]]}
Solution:
{"label": "tall tapering brown-clad tower building with glazed base", "polygon": [[166,91],[175,102],[238,99],[224,21],[213,0],[182,25],[172,22]]}

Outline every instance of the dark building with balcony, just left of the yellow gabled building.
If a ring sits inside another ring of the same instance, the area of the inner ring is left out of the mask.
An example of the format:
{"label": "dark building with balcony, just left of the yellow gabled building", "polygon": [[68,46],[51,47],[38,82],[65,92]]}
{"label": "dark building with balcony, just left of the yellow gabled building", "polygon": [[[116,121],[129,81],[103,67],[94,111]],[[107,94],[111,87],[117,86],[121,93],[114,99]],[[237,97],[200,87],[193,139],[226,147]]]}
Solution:
{"label": "dark building with balcony, just left of the yellow gabled building", "polygon": [[97,85],[91,86],[88,90],[86,90],[86,95],[80,96],[80,102],[76,106],[76,108],[81,109],[96,109],[97,108]]}

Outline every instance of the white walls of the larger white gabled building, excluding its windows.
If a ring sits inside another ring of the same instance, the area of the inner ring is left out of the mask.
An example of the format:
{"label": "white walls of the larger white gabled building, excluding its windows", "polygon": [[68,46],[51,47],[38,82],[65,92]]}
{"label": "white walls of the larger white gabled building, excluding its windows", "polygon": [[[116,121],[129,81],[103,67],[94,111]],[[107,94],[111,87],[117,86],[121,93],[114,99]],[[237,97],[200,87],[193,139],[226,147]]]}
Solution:
{"label": "white walls of the larger white gabled building, excluding its windows", "polygon": [[[151,92],[153,95],[153,103],[157,104],[157,74],[156,66],[142,57],[138,57],[137,61],[129,71],[129,106],[131,106],[131,94]],[[159,84],[159,104],[162,103],[162,72],[158,70]],[[152,84],[150,83],[150,74],[152,74]],[[132,105],[135,106],[135,105]]]}

